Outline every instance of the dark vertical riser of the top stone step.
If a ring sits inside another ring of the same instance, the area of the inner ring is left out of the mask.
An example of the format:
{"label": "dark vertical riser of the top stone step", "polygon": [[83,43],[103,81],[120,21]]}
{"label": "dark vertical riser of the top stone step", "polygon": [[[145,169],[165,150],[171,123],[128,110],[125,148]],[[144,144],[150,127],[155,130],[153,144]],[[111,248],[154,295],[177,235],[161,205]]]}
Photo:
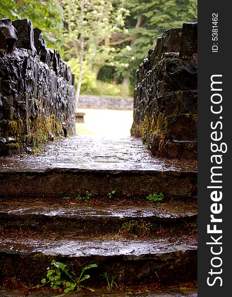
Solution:
{"label": "dark vertical riser of the top stone step", "polygon": [[166,198],[197,195],[197,172],[46,169],[1,172],[0,197],[76,197],[86,191],[98,197],[116,191],[125,198],[163,193]]}

